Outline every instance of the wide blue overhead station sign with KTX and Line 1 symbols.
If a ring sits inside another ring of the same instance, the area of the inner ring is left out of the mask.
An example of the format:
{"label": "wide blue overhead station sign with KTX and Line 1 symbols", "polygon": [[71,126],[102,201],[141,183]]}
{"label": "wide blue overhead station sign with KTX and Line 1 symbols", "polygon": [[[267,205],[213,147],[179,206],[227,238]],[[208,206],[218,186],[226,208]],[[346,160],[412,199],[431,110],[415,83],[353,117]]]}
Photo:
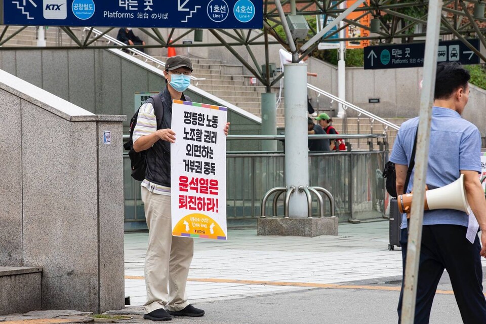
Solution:
{"label": "wide blue overhead station sign with KTX and Line 1 symbols", "polygon": [[263,0],[0,0],[4,25],[263,28]]}

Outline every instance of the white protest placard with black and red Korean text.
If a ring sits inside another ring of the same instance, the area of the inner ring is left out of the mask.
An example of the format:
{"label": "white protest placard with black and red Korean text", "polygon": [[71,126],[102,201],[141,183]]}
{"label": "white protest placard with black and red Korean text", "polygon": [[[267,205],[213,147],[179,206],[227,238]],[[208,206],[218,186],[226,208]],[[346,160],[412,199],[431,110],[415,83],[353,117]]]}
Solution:
{"label": "white protest placard with black and red Korean text", "polygon": [[226,107],[173,101],[173,236],[227,239],[226,117]]}

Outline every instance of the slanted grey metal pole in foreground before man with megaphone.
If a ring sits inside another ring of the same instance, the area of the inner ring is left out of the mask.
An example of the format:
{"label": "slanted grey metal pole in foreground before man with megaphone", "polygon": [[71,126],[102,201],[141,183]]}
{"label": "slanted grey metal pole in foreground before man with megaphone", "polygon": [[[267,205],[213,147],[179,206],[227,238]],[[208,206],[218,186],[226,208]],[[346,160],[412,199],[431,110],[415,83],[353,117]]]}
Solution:
{"label": "slanted grey metal pole in foreground before man with megaphone", "polygon": [[435,72],[437,64],[437,46],[439,42],[440,14],[442,0],[430,1],[427,17],[427,36],[425,38],[425,56],[423,75],[424,82],[420,98],[420,121],[417,137],[417,154],[415,158],[414,197],[407,248],[407,263],[403,288],[401,322],[412,324],[415,317],[417,298],[417,276],[422,241],[422,224],[424,217],[425,181],[429,155],[430,120],[435,89]]}

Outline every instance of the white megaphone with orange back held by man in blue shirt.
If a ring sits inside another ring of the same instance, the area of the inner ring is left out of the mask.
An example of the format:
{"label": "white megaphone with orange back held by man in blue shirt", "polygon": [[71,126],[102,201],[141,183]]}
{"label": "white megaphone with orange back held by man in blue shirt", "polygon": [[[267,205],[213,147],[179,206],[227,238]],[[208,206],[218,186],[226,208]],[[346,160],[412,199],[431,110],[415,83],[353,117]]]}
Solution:
{"label": "white megaphone with orange back held by man in blue shirt", "polygon": [[[397,197],[398,210],[410,217],[413,193],[406,193]],[[466,214],[471,214],[471,208],[467,202],[466,189],[464,188],[464,175],[453,183],[437,189],[425,191],[424,210],[455,209]]]}

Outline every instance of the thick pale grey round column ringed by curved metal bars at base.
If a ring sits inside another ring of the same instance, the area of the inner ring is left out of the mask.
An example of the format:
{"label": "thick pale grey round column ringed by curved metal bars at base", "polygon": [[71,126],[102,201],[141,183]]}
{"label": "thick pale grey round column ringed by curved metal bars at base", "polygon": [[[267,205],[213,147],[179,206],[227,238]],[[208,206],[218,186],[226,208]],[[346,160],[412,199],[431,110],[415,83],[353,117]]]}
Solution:
{"label": "thick pale grey round column ringed by curved metal bars at base", "polygon": [[[307,64],[284,66],[285,97],[285,185],[309,185],[309,149],[307,143]],[[307,217],[306,197],[295,192],[290,198],[289,216]]]}

